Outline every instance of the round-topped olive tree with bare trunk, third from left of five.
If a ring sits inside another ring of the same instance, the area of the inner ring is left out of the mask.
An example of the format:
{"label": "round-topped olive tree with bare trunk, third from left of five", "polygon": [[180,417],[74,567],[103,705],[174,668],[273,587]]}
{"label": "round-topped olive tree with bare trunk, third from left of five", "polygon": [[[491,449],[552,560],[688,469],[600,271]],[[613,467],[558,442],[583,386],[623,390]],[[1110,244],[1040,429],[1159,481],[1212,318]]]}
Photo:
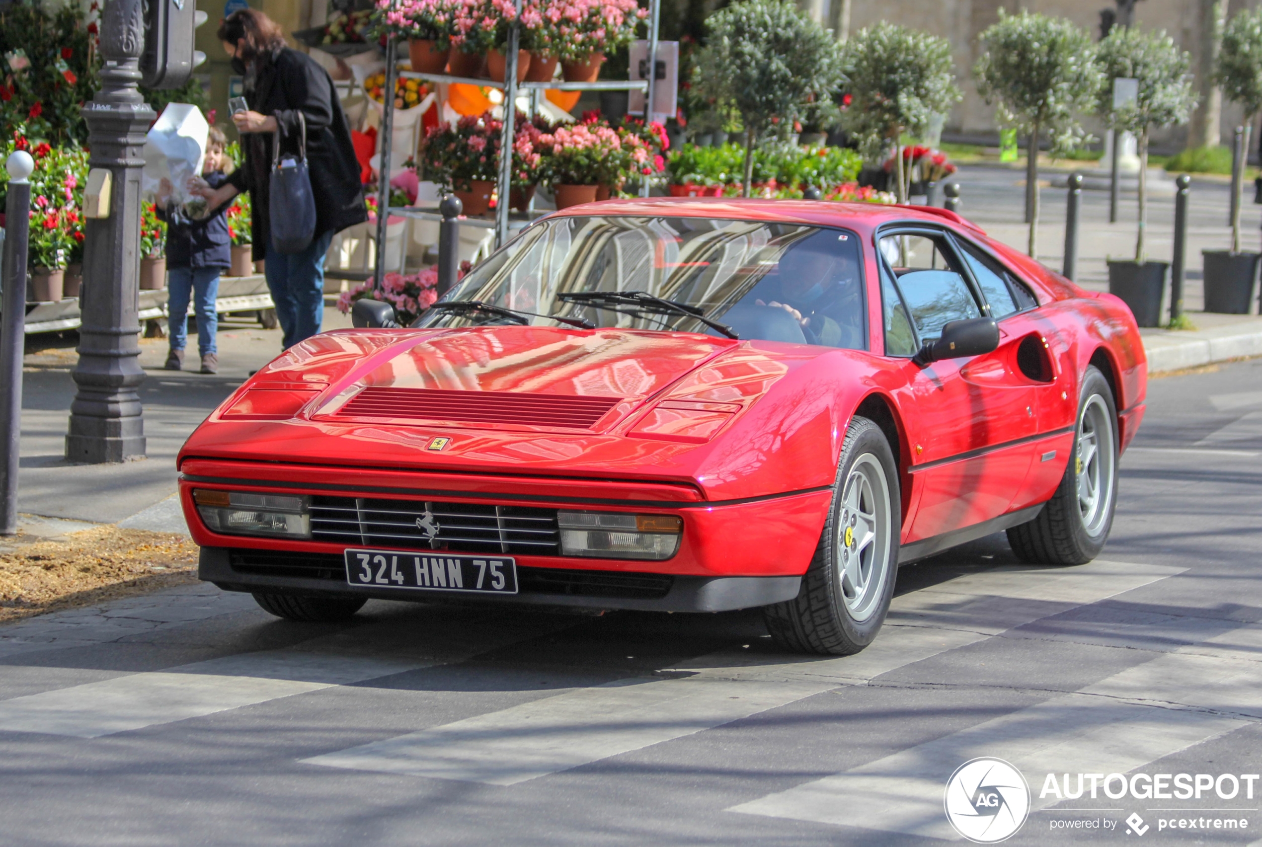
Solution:
{"label": "round-topped olive tree with bare trunk, third from left of five", "polygon": [[1029,139],[1026,146],[1027,252],[1039,247],[1039,143],[1069,151],[1088,140],[1078,114],[1092,111],[1104,74],[1087,30],[1064,18],[1022,11],[1007,15],[982,35],[986,52],[973,68],[977,91],[998,106],[1000,122]]}

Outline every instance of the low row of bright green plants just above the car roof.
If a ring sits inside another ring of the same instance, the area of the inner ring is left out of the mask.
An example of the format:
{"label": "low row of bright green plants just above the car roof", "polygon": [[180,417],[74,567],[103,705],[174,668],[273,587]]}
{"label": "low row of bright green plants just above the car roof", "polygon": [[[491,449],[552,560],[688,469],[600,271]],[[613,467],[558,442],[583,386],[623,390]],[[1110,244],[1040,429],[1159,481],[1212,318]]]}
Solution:
{"label": "low row of bright green plants just above the car roof", "polygon": [[[824,191],[854,182],[863,159],[844,148],[777,145],[753,151],[753,182],[772,179],[801,196],[806,186]],[[671,150],[666,173],[675,186],[734,186],[745,178],[745,148],[740,144]]]}

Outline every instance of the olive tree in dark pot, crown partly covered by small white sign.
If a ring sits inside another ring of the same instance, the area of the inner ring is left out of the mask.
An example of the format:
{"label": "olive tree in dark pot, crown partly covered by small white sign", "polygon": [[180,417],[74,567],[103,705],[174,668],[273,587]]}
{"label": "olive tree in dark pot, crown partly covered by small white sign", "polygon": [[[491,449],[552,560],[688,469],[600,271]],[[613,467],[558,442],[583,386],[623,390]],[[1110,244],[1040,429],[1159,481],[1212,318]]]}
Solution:
{"label": "olive tree in dark pot, crown partly covered by small white sign", "polygon": [[1099,107],[1109,129],[1133,133],[1140,143],[1140,223],[1135,260],[1108,263],[1108,288],[1122,298],[1141,327],[1161,324],[1161,299],[1170,263],[1148,261],[1148,136],[1152,130],[1186,124],[1196,106],[1190,73],[1191,57],[1180,50],[1164,32],[1143,33],[1133,27],[1114,27],[1098,44],[1097,61],[1106,80],[1138,80],[1135,101],[1113,107],[1113,92],[1104,88]]}

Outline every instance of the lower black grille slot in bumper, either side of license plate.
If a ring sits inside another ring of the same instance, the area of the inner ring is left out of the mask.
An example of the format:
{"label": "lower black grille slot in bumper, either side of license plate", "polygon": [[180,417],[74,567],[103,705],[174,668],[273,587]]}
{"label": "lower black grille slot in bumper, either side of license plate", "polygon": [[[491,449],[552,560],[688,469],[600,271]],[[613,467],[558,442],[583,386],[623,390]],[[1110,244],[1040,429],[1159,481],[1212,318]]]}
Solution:
{"label": "lower black grille slot in bumper, either side of license plate", "polygon": [[[237,573],[260,577],[295,577],[346,583],[345,557],[337,553],[285,553],[235,549],[228,563]],[[611,600],[658,600],[670,592],[674,577],[665,573],[621,571],[568,571],[565,568],[517,568],[522,593],[608,597]]]}

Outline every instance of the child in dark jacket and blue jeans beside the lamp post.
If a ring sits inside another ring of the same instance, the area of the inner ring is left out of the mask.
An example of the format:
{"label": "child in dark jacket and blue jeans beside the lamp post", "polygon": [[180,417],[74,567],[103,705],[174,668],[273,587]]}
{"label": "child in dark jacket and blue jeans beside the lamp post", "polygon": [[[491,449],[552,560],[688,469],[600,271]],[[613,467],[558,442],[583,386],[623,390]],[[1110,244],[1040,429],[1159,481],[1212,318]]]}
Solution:
{"label": "child in dark jacket and blue jeans beside the lamp post", "polygon": [[[227,181],[225,170],[232,163],[225,149],[227,138],[212,126],[206,140],[206,159],[202,179],[212,188]],[[196,182],[196,181],[194,181]],[[226,207],[212,210],[211,215],[192,220],[182,210],[168,208],[172,186],[162,181],[158,189],[158,217],[167,221],[167,314],[170,324],[170,352],[167,370],[178,371],[184,365],[184,345],[188,342],[188,302],[193,300],[197,314],[197,347],[202,355],[202,372],[218,372],[220,360],[215,346],[218,316],[215,302],[218,297],[220,273],[232,265],[232,240],[228,237]]]}

